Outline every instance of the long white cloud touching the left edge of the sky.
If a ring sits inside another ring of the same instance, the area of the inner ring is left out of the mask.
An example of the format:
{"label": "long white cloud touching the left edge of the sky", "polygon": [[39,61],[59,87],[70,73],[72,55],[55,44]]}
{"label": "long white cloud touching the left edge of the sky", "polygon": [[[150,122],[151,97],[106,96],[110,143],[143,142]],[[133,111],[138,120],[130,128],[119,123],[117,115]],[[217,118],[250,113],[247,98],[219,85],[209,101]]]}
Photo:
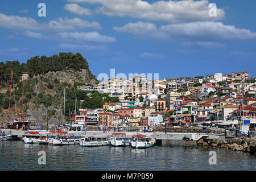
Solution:
{"label": "long white cloud touching the left edge of the sky", "polygon": [[46,31],[67,31],[76,30],[77,28],[101,28],[98,22],[88,22],[80,18],[58,18],[49,20],[48,23],[39,23],[35,19],[8,16],[0,14],[0,27],[18,29],[18,30],[46,30]]}

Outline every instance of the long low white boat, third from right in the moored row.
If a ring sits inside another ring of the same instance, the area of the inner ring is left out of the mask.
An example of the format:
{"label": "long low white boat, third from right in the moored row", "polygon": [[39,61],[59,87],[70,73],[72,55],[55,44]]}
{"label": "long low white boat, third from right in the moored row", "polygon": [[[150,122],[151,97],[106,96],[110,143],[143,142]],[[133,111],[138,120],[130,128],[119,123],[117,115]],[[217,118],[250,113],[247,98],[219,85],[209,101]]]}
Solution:
{"label": "long low white boat, third from right in the moored row", "polygon": [[95,138],[87,137],[85,140],[80,141],[82,147],[96,147],[96,146],[107,146],[110,142],[109,138]]}

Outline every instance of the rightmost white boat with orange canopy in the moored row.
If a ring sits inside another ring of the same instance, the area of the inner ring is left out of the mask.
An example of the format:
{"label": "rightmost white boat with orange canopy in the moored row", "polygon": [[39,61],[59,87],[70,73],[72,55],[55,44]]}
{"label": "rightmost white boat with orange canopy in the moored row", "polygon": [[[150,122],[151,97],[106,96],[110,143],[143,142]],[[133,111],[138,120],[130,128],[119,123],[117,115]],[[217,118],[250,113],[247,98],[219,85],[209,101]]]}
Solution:
{"label": "rightmost white boat with orange canopy in the moored row", "polygon": [[133,148],[148,148],[156,143],[155,138],[147,137],[146,135],[133,135],[132,137],[131,147]]}

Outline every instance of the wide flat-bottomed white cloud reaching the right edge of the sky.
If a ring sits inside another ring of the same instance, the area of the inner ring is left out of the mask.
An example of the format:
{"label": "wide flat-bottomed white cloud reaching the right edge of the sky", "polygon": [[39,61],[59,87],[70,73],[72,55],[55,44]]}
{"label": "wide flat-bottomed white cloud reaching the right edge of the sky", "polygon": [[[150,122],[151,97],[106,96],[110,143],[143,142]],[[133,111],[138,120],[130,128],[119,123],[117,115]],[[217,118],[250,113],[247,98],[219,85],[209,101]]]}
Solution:
{"label": "wide flat-bottomed white cloud reaching the right edge of the sky", "polygon": [[159,28],[155,28],[152,23],[137,22],[127,23],[125,26],[114,27],[113,29],[115,31],[128,32],[138,37],[143,35],[154,39],[170,41],[216,42],[220,40],[247,40],[256,38],[256,32],[234,26],[226,26],[221,22],[177,23]]}

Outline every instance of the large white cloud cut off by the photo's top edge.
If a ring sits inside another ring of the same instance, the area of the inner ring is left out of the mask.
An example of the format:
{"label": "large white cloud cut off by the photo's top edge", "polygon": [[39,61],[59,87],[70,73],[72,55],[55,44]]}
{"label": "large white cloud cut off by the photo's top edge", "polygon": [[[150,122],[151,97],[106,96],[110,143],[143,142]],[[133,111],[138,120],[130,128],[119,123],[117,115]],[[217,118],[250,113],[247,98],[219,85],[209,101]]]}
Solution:
{"label": "large white cloud cut off by the photo's top edge", "polygon": [[69,2],[100,3],[98,13],[109,16],[131,16],[132,18],[158,22],[180,23],[223,19],[224,10],[217,9],[217,17],[209,16],[209,2],[157,1],[148,3],[141,0],[68,0]]}

